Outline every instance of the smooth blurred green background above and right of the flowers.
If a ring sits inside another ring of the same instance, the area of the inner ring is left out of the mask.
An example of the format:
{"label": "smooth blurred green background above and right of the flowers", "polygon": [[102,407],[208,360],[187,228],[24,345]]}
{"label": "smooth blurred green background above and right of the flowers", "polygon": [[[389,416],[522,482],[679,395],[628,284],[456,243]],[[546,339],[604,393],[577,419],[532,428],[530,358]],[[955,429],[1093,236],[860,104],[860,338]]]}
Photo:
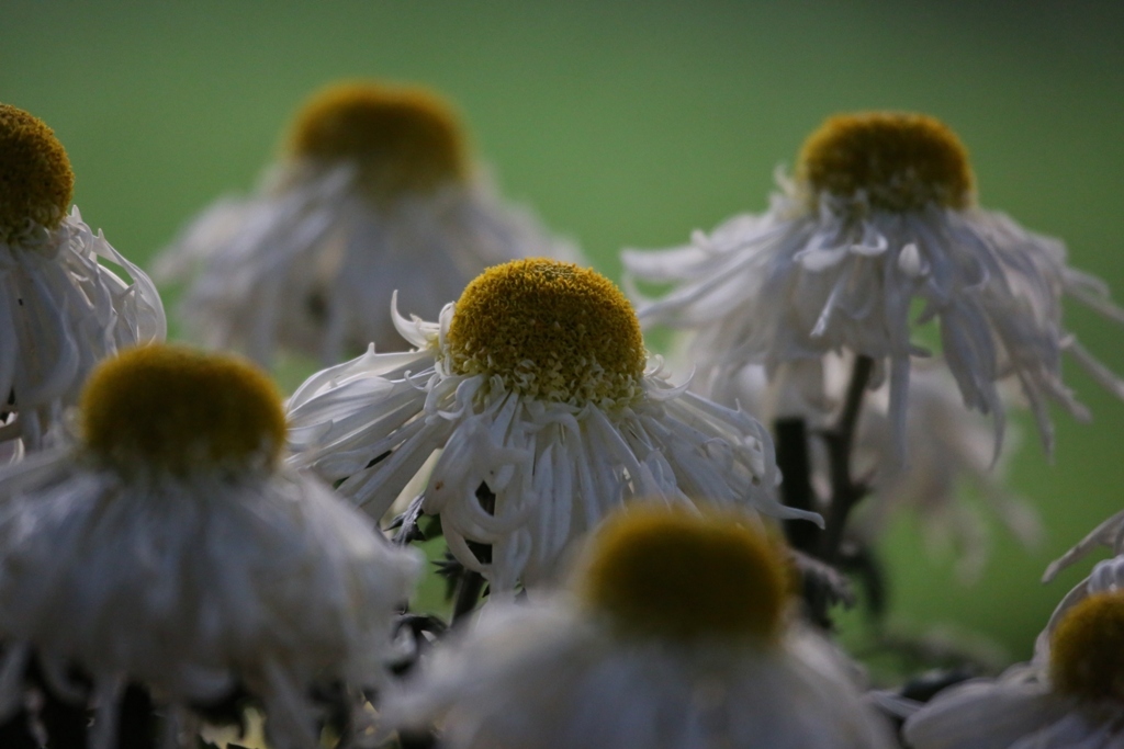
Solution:
{"label": "smooth blurred green background above and right of the flowers", "polygon": [[[972,152],[984,205],[1063,237],[1124,299],[1121,2],[0,3],[0,101],[55,129],[83,217],[142,263],[251,188],[306,95],[355,76],[447,94],[505,193],[614,277],[623,246],[763,209],[773,168],[827,115],[928,112]],[[1073,307],[1067,320],[1124,372],[1118,328]],[[1095,422],[1055,414],[1053,465],[1024,428],[1012,462],[1045,546],[995,529],[966,587],[903,519],[883,549],[899,627],[951,623],[1023,659],[1088,569],[1039,583],[1124,504],[1124,404],[1067,378]]]}

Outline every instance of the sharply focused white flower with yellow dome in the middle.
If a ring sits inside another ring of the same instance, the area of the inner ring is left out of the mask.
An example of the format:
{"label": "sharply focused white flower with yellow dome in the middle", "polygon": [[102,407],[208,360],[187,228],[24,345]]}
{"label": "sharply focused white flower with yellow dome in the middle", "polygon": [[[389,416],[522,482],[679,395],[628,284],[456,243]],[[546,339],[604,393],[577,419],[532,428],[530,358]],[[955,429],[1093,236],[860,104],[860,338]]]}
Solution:
{"label": "sharply focused white flower with yellow dome in the middle", "polygon": [[[293,459],[346,478],[338,491],[379,518],[443,450],[420,509],[493,592],[551,578],[573,539],[633,499],[819,520],[776,499],[768,431],[669,384],[628,300],[593,271],[514,261],[439,323],[395,319],[417,350],[369,351],[289,400]],[[468,541],[492,545],[492,561]]]}

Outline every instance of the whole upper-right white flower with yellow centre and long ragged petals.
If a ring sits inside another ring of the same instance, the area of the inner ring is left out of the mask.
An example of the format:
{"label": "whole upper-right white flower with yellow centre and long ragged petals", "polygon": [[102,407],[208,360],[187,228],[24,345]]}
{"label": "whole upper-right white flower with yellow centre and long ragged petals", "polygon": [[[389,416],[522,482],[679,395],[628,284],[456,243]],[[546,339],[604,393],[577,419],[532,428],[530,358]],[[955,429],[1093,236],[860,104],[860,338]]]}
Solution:
{"label": "whole upper-right white flower with yellow centre and long ragged petals", "polygon": [[[695,331],[705,385],[747,362],[773,376],[845,349],[888,365],[890,415],[904,435],[910,358],[925,354],[912,329],[936,319],[964,403],[995,417],[996,450],[1001,378],[1018,380],[1048,450],[1049,401],[1085,414],[1062,383],[1063,350],[1124,398],[1124,383],[1062,328],[1061,296],[1117,322],[1124,310],[1103,282],[1066,265],[1060,241],[976,204],[968,155],[944,125],[918,115],[831,118],[805,144],[796,180],[780,186],[764,214],[697,232],[681,249],[624,253],[629,282],[674,284],[641,317]],[[924,309],[910,322],[916,303]]]}

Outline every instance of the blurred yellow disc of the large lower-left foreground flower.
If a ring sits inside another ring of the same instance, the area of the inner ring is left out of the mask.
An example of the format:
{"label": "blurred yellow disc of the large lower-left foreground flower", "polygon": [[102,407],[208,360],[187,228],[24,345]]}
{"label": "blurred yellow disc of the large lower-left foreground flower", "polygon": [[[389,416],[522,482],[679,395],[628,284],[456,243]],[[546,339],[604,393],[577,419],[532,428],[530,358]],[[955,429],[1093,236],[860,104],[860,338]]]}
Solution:
{"label": "blurred yellow disc of the large lower-left foreground flower", "polygon": [[130,348],[82,392],[88,450],[126,473],[273,466],[285,438],[281,396],[256,367],[178,346]]}

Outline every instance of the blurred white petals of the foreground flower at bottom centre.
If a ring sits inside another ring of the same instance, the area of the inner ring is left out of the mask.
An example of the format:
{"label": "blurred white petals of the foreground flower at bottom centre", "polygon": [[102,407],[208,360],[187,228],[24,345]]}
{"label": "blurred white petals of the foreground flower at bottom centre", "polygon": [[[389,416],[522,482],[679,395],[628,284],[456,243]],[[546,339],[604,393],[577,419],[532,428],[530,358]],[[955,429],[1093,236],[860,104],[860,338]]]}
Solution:
{"label": "blurred white petals of the foreground flower at bottom centre", "polygon": [[388,705],[450,749],[890,747],[833,648],[616,637],[565,596],[484,610]]}

